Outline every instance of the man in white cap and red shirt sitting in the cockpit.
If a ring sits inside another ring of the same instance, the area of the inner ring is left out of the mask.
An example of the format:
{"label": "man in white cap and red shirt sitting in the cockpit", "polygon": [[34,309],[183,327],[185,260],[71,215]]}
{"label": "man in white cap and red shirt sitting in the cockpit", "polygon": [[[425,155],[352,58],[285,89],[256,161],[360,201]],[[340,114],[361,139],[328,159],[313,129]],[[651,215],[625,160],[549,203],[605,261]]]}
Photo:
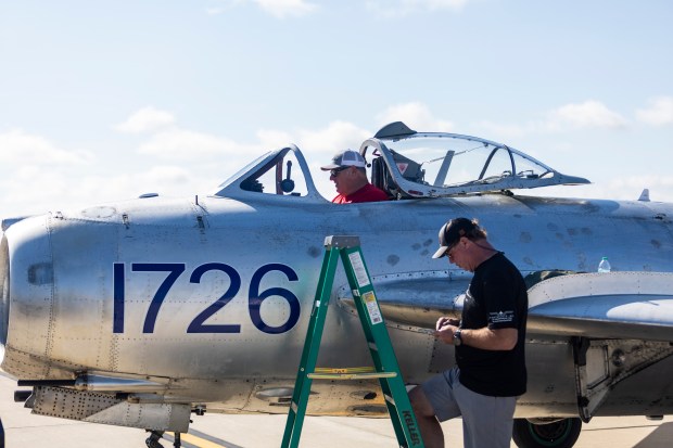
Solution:
{"label": "man in white cap and red shirt sitting in the cockpit", "polygon": [[336,188],[334,204],[388,201],[383,190],[369,183],[365,166],[365,158],[357,151],[346,150],[334,155],[331,164],[320,167],[330,171],[330,180]]}

